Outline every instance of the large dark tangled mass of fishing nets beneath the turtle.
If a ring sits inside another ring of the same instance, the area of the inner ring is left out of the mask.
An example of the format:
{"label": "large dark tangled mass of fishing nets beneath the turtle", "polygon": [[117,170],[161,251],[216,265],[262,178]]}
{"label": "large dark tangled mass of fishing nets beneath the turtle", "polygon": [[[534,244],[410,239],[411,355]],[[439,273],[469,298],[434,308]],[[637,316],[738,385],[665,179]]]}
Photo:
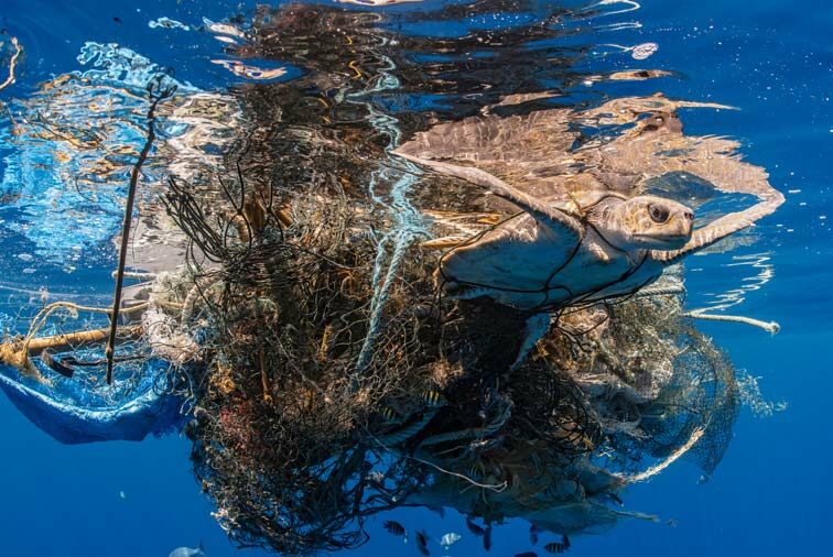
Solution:
{"label": "large dark tangled mass of fishing nets beneath the turtle", "polygon": [[726,449],[734,370],[683,316],[679,276],[565,313],[510,373],[527,316],[439,297],[416,244],[379,312],[378,217],[342,184],[262,192],[240,174],[225,218],[188,189],[172,183],[167,208],[213,264],[192,264],[181,324],[206,331],[187,432],[240,545],[354,547],[405,503],[598,531],[645,517],[609,504],[628,483],[683,454],[711,473]]}

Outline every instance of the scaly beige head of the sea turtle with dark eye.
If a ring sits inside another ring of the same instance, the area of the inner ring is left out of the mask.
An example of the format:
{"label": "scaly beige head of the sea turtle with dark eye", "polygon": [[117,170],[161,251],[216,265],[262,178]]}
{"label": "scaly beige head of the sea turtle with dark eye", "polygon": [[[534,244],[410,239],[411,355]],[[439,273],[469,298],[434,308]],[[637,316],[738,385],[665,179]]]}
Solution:
{"label": "scaly beige head of the sea turtle with dark eye", "polygon": [[639,195],[612,207],[604,236],[624,250],[679,250],[691,240],[694,212],[682,204]]}

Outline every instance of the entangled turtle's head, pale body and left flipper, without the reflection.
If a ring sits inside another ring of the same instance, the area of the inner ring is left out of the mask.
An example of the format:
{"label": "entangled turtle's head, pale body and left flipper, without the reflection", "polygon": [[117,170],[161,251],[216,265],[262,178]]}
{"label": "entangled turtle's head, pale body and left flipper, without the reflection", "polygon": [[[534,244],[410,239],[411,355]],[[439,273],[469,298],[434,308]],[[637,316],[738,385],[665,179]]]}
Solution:
{"label": "entangled turtle's head, pale body and left flipper, without the reflection", "polygon": [[657,280],[671,250],[701,247],[686,247],[692,211],[669,199],[598,193],[575,216],[483,171],[429,165],[486,186],[524,211],[470,241],[451,237],[434,242],[455,245],[443,258],[440,274],[456,297],[488,296],[533,310],[608,298]]}

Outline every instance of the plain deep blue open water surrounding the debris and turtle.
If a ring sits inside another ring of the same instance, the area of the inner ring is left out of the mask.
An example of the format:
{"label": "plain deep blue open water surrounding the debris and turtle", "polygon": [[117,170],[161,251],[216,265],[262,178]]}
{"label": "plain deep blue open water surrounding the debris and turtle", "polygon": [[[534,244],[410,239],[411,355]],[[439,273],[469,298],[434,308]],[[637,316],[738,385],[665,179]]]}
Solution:
{"label": "plain deep blue open water surrounding the debris and turtle", "polygon": [[[177,79],[199,88],[227,87],[235,83],[230,75],[208,62],[220,48],[209,35],[148,26],[148,21],[162,15],[198,24],[203,17],[221,21],[248,9],[237,2],[223,4],[147,0],[127,7],[100,0],[3,0],[0,26],[19,36],[28,58],[18,83],[0,92],[0,99],[25,97],[50,76],[78,69],[76,56],[87,41],[129,46],[174,68]],[[605,91],[645,95],[661,88],[669,97],[738,107],[738,111],[686,113],[686,131],[738,139],[747,160],[767,168],[771,184],[787,195],[787,203],[761,223],[762,239],[733,253],[769,256],[771,278],[760,290],[747,292],[733,310],[777,320],[780,334],[770,337],[724,324],[701,327],[729,352],[738,369],[760,378],[766,398],[788,406],[771,417],[756,417],[745,409],[728,452],[707,483],[699,484],[699,471],[678,462],[625,493],[629,509],[657,514],[662,523],[623,521],[609,533],[576,537],[571,551],[824,555],[830,551],[833,500],[827,478],[833,469],[829,415],[833,298],[827,292],[833,285],[833,234],[827,218],[833,218],[829,183],[833,6],[823,0],[645,0],[641,4],[637,11],[610,17],[612,22],[638,21],[640,29],[582,40],[656,42],[660,48],[650,58],[651,65],[679,72],[681,77],[659,84],[606,84]],[[405,9],[415,6],[405,4]],[[598,64],[625,67],[627,62],[601,59]],[[14,250],[4,245],[3,251]],[[12,260],[1,261],[2,280],[21,283],[20,269]],[[760,271],[731,263],[727,256],[712,255],[689,263],[689,305],[710,304],[715,294],[748,284]],[[58,273],[53,278],[91,280],[84,270],[78,273],[68,277]],[[30,284],[41,284],[39,280],[44,278],[35,275]],[[196,546],[199,540],[212,557],[237,554],[210,516],[212,505],[193,478],[185,438],[171,435],[143,443],[64,446],[6,400],[0,401],[0,555],[166,556],[174,547]],[[412,529],[424,527],[433,537],[450,531],[464,534],[450,555],[483,553],[454,513],[444,521],[430,511],[398,511],[398,515]],[[669,520],[673,527],[666,524]],[[416,555],[413,543],[403,546],[375,522],[370,533],[372,539],[353,555]],[[512,523],[496,529],[493,555],[528,549],[526,525]]]}

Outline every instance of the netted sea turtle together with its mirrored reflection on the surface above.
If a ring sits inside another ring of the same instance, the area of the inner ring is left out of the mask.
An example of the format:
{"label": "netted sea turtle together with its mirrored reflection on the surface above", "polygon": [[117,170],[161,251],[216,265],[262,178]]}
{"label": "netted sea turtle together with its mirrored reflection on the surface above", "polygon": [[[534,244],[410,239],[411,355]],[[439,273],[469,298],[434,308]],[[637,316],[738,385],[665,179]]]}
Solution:
{"label": "netted sea turtle together with its mirrored reflection on the surface above", "polygon": [[[528,310],[533,345],[549,327],[548,312],[632,294],[668,265],[772,212],[783,197],[766,173],[740,162],[731,141],[684,136],[678,106],[696,105],[661,96],[619,101],[615,117],[636,125],[578,150],[572,124],[606,118],[604,107],[470,117],[418,133],[393,151],[520,209],[477,233],[428,242],[448,250],[436,273],[442,287],[453,297],[485,296]],[[612,159],[619,153],[628,159]],[[694,230],[692,209],[646,194],[649,179],[668,173],[696,175],[760,201]]]}

